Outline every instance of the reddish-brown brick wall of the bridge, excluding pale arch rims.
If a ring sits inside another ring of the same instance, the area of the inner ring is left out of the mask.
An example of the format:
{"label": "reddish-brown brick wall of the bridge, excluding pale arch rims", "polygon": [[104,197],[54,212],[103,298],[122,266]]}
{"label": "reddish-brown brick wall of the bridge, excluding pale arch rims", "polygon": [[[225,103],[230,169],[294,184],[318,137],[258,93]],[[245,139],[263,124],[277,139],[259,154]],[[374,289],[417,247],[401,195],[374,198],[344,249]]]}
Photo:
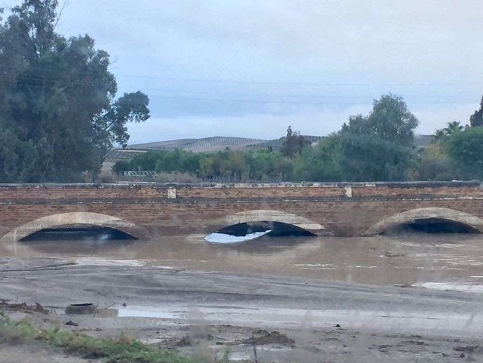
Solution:
{"label": "reddish-brown brick wall of the bridge, excluding pale arch rims", "polygon": [[[174,198],[176,197],[176,198]],[[119,217],[153,235],[209,233],[217,219],[278,210],[311,219],[335,235],[360,235],[393,214],[444,207],[483,219],[479,182],[339,184],[0,184],[0,236],[65,212]]]}

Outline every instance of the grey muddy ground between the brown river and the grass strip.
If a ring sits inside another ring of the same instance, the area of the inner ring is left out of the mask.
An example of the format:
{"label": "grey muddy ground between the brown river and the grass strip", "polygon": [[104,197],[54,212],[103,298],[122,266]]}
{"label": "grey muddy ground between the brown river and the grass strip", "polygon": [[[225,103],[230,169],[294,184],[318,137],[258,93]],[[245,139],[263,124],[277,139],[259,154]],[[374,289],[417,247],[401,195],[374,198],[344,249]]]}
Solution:
{"label": "grey muddy ground between the brown river and the grass strip", "polygon": [[[99,336],[124,331],[190,355],[228,350],[232,361],[253,362],[255,350],[258,362],[483,361],[477,293],[13,257],[0,258],[0,286],[6,305],[37,302],[49,310],[4,307],[13,317]],[[85,302],[109,313],[64,313]],[[1,357],[85,361],[31,345],[3,346]]]}

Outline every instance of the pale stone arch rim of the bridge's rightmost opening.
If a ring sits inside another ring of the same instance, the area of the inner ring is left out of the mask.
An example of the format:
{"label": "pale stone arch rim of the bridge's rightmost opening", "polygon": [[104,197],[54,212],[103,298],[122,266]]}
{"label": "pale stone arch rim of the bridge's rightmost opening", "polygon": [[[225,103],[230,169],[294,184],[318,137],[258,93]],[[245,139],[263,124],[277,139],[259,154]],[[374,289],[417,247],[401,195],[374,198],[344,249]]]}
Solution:
{"label": "pale stone arch rim of the bridge's rightmost opening", "polygon": [[428,207],[416,208],[414,210],[407,210],[402,213],[394,214],[391,217],[383,219],[377,224],[368,228],[363,235],[379,235],[384,231],[400,226],[402,224],[410,224],[416,221],[438,219],[442,221],[456,222],[468,226],[473,230],[483,233],[483,219],[478,218],[472,214],[453,210],[450,208]]}

